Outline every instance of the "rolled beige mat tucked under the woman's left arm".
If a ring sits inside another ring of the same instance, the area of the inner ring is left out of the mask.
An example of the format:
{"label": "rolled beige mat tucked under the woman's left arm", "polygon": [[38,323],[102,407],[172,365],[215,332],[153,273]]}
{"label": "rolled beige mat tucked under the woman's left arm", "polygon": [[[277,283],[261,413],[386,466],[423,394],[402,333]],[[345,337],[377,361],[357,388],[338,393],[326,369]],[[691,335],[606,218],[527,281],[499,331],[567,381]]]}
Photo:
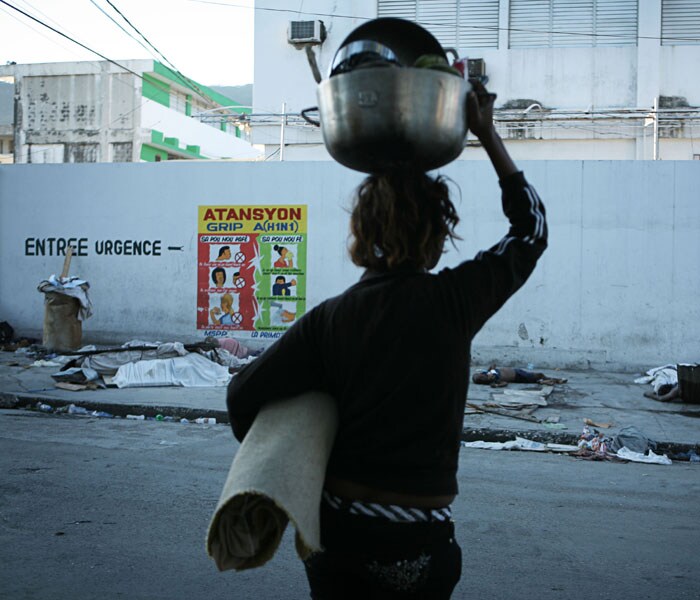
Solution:
{"label": "rolled beige mat tucked under the woman's left arm", "polygon": [[321,549],[319,507],[337,428],[335,401],[320,392],[260,410],[209,523],[207,552],[220,571],[264,565],[289,521],[302,560]]}

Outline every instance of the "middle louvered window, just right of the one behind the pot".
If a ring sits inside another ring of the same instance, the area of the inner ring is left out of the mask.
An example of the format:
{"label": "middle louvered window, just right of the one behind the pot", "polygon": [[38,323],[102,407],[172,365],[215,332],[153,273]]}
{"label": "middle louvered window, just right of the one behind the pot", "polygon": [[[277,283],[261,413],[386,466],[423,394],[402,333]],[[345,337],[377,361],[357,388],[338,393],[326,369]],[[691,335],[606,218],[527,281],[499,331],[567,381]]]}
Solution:
{"label": "middle louvered window, just right of the one behind the pot", "polygon": [[510,0],[510,47],[634,46],[637,0]]}

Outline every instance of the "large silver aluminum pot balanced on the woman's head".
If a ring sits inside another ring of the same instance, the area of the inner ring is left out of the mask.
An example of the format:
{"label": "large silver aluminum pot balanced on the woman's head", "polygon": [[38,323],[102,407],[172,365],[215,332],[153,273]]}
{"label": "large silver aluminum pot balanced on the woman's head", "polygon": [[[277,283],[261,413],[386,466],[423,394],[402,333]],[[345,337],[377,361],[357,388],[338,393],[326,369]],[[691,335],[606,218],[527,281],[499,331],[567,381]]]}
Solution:
{"label": "large silver aluminum pot balanced on the woman's head", "polygon": [[430,171],[459,156],[471,85],[450,73],[366,68],[318,86],[323,141],[340,164],[364,173]]}

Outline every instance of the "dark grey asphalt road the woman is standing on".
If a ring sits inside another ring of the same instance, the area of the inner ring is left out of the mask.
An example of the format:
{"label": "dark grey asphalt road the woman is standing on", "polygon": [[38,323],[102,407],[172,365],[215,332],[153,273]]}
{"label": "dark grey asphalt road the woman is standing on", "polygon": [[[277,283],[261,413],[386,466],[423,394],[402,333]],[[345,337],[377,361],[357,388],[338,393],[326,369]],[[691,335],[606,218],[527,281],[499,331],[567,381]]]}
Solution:
{"label": "dark grey asphalt road the woman is standing on", "polygon": [[[206,527],[227,426],[0,411],[0,596],[307,598],[288,533],[219,573]],[[700,465],[462,450],[455,599],[700,598]]]}

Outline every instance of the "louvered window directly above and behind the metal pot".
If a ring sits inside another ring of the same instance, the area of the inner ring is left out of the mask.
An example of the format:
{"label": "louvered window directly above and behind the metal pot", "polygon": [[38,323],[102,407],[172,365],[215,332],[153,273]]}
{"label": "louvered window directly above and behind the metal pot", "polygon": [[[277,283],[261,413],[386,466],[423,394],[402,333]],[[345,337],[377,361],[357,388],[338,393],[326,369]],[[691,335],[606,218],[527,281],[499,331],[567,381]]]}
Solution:
{"label": "louvered window directly above and behind the metal pot", "polygon": [[377,16],[415,21],[447,48],[498,48],[499,0],[379,0]]}

